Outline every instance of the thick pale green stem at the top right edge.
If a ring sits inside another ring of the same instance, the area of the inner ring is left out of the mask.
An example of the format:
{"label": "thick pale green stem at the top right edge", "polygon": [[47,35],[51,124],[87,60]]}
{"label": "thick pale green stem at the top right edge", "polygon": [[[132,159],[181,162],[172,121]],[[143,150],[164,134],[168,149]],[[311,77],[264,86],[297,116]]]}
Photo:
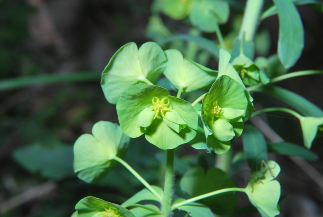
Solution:
{"label": "thick pale green stem at the top right edge", "polygon": [[248,0],[246,9],[244,11],[242,25],[240,28],[239,39],[245,41],[252,41],[256,28],[259,23],[259,16],[261,8],[263,5],[263,0]]}

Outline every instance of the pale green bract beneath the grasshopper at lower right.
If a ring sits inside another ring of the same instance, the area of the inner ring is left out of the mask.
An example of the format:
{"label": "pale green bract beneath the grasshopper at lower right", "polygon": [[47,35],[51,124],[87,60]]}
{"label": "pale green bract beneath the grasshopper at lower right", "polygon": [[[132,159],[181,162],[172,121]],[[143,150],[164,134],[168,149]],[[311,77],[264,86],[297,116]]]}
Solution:
{"label": "pale green bract beneath the grasshopper at lower right", "polygon": [[277,208],[281,194],[281,186],[278,181],[274,180],[264,184],[249,182],[246,194],[262,217],[275,217],[280,213]]}

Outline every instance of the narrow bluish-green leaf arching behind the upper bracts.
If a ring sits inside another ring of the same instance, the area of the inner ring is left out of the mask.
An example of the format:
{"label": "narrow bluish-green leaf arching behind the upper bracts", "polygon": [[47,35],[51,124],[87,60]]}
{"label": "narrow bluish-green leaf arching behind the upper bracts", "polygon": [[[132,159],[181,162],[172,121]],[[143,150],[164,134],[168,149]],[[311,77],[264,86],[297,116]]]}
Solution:
{"label": "narrow bluish-green leaf arching behind the upper bracts", "polygon": [[195,42],[200,47],[209,51],[215,57],[219,58],[219,52],[220,52],[219,46],[216,43],[212,42],[211,40],[208,40],[206,38],[199,37],[199,36],[179,34],[179,35],[174,35],[172,37],[165,38],[163,40],[159,40],[156,43],[160,45],[174,40],[187,40],[187,41]]}

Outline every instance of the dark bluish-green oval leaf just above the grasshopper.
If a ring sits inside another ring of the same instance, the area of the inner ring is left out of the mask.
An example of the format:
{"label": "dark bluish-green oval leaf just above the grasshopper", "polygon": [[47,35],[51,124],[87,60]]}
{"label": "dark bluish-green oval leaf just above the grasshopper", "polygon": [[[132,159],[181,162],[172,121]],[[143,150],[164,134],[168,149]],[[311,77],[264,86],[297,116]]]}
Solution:
{"label": "dark bluish-green oval leaf just above the grasshopper", "polygon": [[242,133],[243,149],[251,169],[260,168],[261,160],[267,160],[267,144],[260,131],[247,125]]}

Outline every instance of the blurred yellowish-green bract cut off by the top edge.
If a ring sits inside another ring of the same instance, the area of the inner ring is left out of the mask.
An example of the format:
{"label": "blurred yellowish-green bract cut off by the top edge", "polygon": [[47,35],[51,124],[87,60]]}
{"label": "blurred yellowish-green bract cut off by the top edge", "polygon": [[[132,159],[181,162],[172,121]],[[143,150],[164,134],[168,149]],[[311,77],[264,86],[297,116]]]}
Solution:
{"label": "blurred yellowish-green bract cut off by the top edge", "polygon": [[192,9],[194,0],[162,0],[163,12],[174,20],[182,20],[187,17]]}

